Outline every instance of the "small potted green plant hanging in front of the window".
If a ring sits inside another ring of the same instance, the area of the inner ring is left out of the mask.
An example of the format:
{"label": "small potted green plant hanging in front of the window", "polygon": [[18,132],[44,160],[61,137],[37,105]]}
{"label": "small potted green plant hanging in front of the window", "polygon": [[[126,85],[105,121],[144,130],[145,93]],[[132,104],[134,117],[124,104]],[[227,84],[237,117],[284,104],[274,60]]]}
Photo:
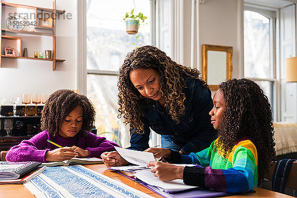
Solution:
{"label": "small potted green plant hanging in front of the window", "polygon": [[136,34],[138,32],[138,28],[140,25],[140,20],[145,22],[145,19],[148,17],[144,16],[143,13],[138,13],[138,15],[133,14],[134,9],[131,10],[130,15],[129,12],[126,13],[126,16],[124,18],[124,21],[126,22],[126,32],[128,34]]}

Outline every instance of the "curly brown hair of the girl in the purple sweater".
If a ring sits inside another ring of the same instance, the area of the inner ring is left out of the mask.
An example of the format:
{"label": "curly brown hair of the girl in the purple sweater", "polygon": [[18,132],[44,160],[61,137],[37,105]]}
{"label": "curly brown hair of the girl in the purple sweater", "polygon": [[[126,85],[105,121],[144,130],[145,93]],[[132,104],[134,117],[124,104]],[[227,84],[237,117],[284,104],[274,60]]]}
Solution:
{"label": "curly brown hair of the girl in the purple sweater", "polygon": [[88,133],[95,121],[95,108],[86,96],[66,89],[55,91],[49,96],[42,110],[41,129],[47,130],[52,136],[57,135],[65,117],[77,106],[84,109],[81,132]]}

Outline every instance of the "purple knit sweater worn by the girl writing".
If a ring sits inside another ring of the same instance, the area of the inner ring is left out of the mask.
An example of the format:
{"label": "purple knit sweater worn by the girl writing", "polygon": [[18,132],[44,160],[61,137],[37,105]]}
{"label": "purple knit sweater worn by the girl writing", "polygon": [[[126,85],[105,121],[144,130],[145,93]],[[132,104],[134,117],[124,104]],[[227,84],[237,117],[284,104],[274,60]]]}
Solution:
{"label": "purple knit sweater worn by the girl writing", "polygon": [[47,142],[50,140],[62,147],[77,146],[89,150],[88,157],[100,157],[102,152],[113,151],[113,146],[117,144],[106,140],[104,137],[98,137],[93,133],[88,133],[87,137],[83,133],[78,133],[71,138],[62,138],[59,135],[52,137],[45,130],[32,137],[30,140],[23,140],[19,145],[10,148],[6,154],[7,161],[46,161],[46,152],[58,147]]}

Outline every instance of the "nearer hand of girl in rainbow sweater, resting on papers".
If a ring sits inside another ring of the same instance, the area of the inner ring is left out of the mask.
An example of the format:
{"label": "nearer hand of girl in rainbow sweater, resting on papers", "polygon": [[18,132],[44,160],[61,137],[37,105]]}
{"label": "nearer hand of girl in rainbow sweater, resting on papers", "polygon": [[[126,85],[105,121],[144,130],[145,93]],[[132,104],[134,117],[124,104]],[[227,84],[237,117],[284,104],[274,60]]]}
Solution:
{"label": "nearer hand of girl in rainbow sweater, resting on papers", "polygon": [[161,181],[183,179],[185,169],[183,166],[175,166],[160,161],[151,161],[148,163],[147,167],[150,166],[153,166],[150,171],[154,173],[154,176],[158,177]]}

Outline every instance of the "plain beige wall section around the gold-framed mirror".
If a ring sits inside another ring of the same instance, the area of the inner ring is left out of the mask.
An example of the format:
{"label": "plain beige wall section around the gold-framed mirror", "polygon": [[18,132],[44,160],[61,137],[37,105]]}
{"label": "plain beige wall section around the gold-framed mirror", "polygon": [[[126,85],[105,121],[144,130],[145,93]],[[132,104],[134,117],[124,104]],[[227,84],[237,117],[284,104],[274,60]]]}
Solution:
{"label": "plain beige wall section around the gold-framed mirror", "polygon": [[233,78],[243,77],[242,19],[242,0],[206,0],[199,4],[199,49],[202,44],[232,46]]}

